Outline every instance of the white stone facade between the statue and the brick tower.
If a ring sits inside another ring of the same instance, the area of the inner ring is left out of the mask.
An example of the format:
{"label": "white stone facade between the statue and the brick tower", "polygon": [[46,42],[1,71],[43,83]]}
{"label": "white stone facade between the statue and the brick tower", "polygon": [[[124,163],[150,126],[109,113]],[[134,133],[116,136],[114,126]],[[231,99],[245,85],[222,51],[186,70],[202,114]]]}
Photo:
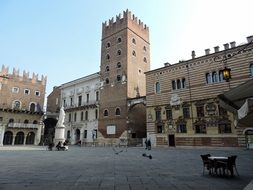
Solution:
{"label": "white stone facade between the statue and the brick tower", "polygon": [[62,84],[61,106],[65,110],[65,139],[71,144],[96,142],[99,117],[100,75],[94,73]]}

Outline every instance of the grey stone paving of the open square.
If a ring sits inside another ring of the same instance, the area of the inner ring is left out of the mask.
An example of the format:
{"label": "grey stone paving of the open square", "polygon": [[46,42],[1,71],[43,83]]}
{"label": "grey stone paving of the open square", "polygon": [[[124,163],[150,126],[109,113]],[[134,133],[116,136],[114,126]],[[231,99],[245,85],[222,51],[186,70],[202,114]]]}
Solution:
{"label": "grey stone paving of the open square", "polygon": [[[0,147],[0,190],[242,190],[253,179],[253,151],[214,148]],[[143,157],[152,154],[153,159]],[[200,154],[238,155],[240,176],[202,175]]]}

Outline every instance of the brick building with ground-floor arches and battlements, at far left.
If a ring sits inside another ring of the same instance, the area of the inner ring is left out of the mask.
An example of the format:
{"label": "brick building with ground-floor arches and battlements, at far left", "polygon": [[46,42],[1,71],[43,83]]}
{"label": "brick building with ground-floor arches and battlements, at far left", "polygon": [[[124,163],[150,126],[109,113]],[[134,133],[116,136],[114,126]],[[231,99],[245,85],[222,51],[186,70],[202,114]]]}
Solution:
{"label": "brick building with ground-floor arches and battlements, at far left", "polygon": [[0,144],[38,145],[43,128],[46,77],[2,66],[0,72]]}

